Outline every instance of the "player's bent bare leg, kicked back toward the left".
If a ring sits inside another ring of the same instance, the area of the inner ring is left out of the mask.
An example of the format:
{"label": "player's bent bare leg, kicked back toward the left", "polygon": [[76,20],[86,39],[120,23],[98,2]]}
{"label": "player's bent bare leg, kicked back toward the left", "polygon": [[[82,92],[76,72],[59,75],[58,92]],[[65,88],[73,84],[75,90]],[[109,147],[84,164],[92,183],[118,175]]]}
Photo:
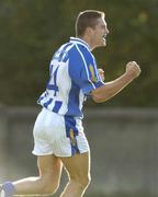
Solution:
{"label": "player's bent bare leg, kicked back toward the left", "polygon": [[[3,185],[2,188],[5,194],[10,194],[11,184],[14,187],[14,195],[43,195],[55,193],[59,185],[63,169],[60,159],[54,155],[42,155],[37,158],[37,164],[40,171],[37,177],[23,178],[10,183],[10,186]],[[5,197],[8,196],[5,195]]]}

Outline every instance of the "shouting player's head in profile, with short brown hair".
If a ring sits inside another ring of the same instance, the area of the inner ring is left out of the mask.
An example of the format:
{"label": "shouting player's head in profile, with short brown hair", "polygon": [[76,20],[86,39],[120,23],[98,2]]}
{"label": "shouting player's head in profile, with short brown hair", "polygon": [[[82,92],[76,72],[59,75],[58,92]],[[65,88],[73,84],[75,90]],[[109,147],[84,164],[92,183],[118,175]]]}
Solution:
{"label": "shouting player's head in profile, with short brown hair", "polygon": [[86,10],[80,12],[76,21],[76,36],[90,39],[93,48],[105,46],[105,36],[109,33],[109,30],[104,16],[104,12],[97,10]]}

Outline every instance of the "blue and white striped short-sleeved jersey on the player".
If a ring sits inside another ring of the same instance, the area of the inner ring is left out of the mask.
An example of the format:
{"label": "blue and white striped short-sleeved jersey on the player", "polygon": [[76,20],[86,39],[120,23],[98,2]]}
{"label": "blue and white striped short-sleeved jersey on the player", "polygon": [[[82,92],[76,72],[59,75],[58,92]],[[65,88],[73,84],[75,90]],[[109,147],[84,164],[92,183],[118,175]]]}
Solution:
{"label": "blue and white striped short-sleeved jersey on the player", "polygon": [[103,82],[87,43],[70,37],[54,54],[49,65],[49,81],[37,103],[60,115],[82,117],[83,101]]}

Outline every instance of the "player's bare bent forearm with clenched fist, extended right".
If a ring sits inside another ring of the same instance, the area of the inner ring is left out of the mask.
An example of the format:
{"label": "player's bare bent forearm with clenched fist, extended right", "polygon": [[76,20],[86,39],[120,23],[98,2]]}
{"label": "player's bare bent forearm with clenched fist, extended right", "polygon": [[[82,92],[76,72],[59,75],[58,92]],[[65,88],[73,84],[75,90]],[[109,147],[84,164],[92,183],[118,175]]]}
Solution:
{"label": "player's bare bent forearm with clenched fist, extended right", "polygon": [[92,90],[91,95],[94,102],[102,103],[110,100],[119,92],[121,92],[127,84],[129,84],[135,78],[140,74],[140,68],[135,61],[131,61],[126,65],[126,71],[120,78],[114,81],[104,83]]}

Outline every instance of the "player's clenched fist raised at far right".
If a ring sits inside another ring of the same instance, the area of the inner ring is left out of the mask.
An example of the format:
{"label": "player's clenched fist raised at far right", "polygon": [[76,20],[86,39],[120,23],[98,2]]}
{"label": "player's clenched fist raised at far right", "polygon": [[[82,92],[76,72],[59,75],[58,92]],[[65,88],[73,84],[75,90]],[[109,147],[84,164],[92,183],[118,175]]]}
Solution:
{"label": "player's clenched fist raised at far right", "polygon": [[131,74],[133,78],[137,78],[140,74],[140,67],[136,61],[129,61],[126,65],[126,73]]}

